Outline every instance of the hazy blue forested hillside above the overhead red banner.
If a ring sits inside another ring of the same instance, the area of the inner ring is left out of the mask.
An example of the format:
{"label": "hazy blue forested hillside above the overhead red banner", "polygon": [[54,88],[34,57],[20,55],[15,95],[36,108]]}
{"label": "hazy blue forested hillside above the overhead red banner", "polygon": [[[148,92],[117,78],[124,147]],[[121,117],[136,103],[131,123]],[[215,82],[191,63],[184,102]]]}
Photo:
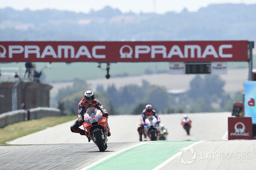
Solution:
{"label": "hazy blue forested hillside above the overhead red banner", "polygon": [[256,4],[212,4],[165,14],[105,7],[99,11],[0,9],[1,41],[139,41],[256,39]]}

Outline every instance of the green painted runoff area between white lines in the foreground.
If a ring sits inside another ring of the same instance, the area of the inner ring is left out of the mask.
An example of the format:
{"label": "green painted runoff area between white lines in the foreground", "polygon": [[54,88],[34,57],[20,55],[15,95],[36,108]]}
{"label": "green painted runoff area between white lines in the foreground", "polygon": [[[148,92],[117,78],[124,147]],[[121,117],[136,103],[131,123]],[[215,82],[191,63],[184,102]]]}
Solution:
{"label": "green painted runoff area between white lines in the foreground", "polygon": [[197,141],[152,141],[120,152],[88,169],[154,169]]}

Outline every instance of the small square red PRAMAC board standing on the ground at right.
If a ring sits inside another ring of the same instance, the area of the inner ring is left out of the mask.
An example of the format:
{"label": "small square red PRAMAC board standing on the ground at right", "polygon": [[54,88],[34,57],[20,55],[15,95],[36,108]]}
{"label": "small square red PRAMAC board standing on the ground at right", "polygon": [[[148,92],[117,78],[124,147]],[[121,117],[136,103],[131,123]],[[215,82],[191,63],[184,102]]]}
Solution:
{"label": "small square red PRAMAC board standing on the ground at right", "polygon": [[228,140],[252,139],[251,117],[228,117]]}

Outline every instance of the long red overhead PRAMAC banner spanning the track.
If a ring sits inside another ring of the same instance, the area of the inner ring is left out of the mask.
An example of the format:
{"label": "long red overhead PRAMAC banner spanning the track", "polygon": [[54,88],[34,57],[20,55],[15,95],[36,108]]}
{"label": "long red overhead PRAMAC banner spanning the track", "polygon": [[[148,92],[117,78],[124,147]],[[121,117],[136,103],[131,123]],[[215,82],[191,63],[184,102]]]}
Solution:
{"label": "long red overhead PRAMAC banner spanning the track", "polygon": [[0,41],[0,62],[248,61],[248,41]]}

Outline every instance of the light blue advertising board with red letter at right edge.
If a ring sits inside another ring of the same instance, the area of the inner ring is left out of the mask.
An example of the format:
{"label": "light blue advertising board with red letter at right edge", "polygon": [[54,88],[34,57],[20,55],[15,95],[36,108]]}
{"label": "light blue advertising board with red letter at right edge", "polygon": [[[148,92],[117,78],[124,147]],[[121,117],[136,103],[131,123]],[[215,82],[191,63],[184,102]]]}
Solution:
{"label": "light blue advertising board with red letter at right edge", "polygon": [[256,81],[244,82],[244,117],[252,117],[256,124]]}

